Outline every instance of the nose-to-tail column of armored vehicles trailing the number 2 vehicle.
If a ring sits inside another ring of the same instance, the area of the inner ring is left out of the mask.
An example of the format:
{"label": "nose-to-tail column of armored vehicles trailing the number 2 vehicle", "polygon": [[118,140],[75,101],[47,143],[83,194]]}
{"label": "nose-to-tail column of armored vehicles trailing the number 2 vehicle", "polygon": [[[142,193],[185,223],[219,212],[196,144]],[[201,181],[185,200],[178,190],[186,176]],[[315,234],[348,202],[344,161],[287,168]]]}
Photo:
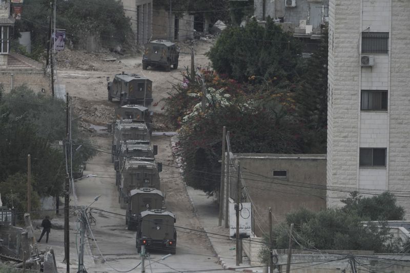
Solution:
{"label": "nose-to-tail column of armored vehicles trailing the number 2 vehicle", "polygon": [[136,248],[176,253],[176,217],[164,207],[159,173],[162,163],[155,160],[158,148],[151,146],[151,114],[138,105],[121,106],[115,121],[107,124],[112,132],[112,161],[116,171],[118,202],[126,208],[126,225],[136,230]]}

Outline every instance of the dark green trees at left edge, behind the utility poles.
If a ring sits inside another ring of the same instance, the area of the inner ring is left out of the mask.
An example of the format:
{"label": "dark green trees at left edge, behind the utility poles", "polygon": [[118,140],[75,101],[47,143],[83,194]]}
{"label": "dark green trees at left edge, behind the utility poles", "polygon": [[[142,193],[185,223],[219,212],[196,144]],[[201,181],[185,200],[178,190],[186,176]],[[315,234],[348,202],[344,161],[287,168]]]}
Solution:
{"label": "dark green trees at left edge, behind the utility poles", "polygon": [[[0,92],[3,93],[3,92]],[[66,138],[65,103],[20,86],[0,96],[0,191],[4,205],[27,208],[27,155],[31,156],[32,211],[39,197],[58,196],[66,177],[63,146]],[[95,155],[91,143],[72,126],[73,170]]]}

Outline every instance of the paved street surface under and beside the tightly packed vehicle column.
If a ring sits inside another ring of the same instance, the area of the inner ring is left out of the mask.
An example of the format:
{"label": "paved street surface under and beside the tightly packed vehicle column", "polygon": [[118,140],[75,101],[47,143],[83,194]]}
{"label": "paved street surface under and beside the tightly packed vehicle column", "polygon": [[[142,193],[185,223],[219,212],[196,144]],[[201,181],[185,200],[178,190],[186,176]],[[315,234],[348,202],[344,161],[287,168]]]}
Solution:
{"label": "paved street surface under and beside the tightly packed vehicle column", "polygon": [[[94,137],[96,145],[104,150],[109,150],[111,138],[108,135]],[[179,169],[171,156],[169,136],[153,136],[153,144],[158,145],[157,160],[163,163],[161,176],[161,190],[166,193],[166,206],[177,216],[178,228],[177,254],[164,261],[158,261],[166,253],[150,253],[146,261],[146,270],[153,272],[177,272],[192,270],[221,270],[217,258],[213,253],[210,242],[203,233],[191,229],[202,227],[193,214],[193,209],[179,176]],[[99,255],[94,241],[90,236],[89,243],[93,261],[86,260],[88,272],[114,272],[130,270],[140,262],[140,257],[135,248],[135,233],[127,230],[125,225],[125,209],[118,204],[118,194],[115,186],[115,173],[111,163],[111,155],[101,153],[87,164],[87,174],[95,176],[80,179],[75,182],[78,205],[89,205],[95,196],[101,195],[92,207],[103,209],[107,212],[92,210],[95,223],[92,226],[96,243],[105,257]],[[112,212],[108,213],[108,212]],[[75,218],[72,219],[74,221]],[[71,224],[75,227],[74,223]],[[73,237],[74,238],[74,237]],[[74,239],[73,239],[74,240]],[[113,267],[113,268],[112,268]],[[140,270],[140,266],[133,272]]]}

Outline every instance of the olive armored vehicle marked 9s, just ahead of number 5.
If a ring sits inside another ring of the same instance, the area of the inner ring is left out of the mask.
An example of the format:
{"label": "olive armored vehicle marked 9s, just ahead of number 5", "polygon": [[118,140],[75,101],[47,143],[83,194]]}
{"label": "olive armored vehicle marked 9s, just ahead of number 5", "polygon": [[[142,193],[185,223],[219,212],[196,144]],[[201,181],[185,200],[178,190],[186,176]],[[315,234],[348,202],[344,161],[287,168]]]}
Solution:
{"label": "olive armored vehicle marked 9s, just ahead of number 5", "polygon": [[159,173],[162,163],[153,158],[133,157],[127,158],[121,167],[120,183],[118,186],[118,201],[121,208],[127,208],[128,197],[131,190],[140,187],[153,187],[159,190]]}

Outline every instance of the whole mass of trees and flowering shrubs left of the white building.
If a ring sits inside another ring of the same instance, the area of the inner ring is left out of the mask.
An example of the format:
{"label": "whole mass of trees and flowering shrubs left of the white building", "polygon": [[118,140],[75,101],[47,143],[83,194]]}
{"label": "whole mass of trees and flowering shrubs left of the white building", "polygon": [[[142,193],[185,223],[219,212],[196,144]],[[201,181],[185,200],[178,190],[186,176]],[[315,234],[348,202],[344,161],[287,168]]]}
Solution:
{"label": "whole mass of trees and flowering shrubs left of the white building", "polygon": [[253,21],[222,32],[210,51],[215,70],[200,70],[203,110],[201,78],[187,69],[165,110],[179,128],[176,152],[189,185],[208,194],[219,188],[223,126],[234,153],[326,152],[325,35],[306,62],[297,41],[270,18],[265,28]]}

